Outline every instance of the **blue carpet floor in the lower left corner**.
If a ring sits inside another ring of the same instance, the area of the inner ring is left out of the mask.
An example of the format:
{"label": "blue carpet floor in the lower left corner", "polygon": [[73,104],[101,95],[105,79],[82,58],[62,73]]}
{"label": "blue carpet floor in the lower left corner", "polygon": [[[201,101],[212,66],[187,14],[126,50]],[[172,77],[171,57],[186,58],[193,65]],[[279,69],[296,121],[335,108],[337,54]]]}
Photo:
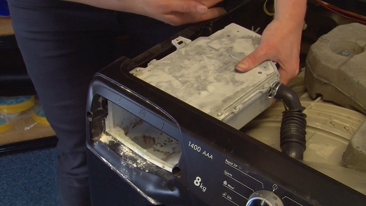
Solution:
{"label": "blue carpet floor in the lower left corner", "polygon": [[58,206],[54,148],[0,156],[0,206]]}

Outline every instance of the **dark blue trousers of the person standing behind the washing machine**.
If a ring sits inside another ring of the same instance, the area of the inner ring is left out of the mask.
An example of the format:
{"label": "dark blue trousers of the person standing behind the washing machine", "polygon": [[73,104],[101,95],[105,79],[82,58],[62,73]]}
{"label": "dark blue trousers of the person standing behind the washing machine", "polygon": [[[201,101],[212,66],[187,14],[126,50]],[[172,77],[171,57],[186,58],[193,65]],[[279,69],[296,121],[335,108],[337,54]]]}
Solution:
{"label": "dark blue trousers of the person standing behind the washing machine", "polygon": [[131,37],[128,56],[134,57],[183,27],[62,0],[8,4],[27,72],[59,139],[61,205],[88,206],[85,115],[93,74],[116,59],[115,37],[121,33]]}

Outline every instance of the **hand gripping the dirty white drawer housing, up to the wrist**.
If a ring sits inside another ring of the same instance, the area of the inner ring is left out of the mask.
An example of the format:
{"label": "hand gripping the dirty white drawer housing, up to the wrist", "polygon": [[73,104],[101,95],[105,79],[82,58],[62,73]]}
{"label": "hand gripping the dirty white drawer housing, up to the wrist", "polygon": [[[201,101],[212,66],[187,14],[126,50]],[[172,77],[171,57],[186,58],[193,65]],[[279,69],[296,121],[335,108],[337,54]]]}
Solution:
{"label": "hand gripping the dirty white drawer housing, up to the wrist", "polygon": [[299,71],[302,27],[302,22],[275,19],[263,31],[259,46],[240,61],[235,70],[244,73],[272,60],[279,64],[280,82],[288,84]]}

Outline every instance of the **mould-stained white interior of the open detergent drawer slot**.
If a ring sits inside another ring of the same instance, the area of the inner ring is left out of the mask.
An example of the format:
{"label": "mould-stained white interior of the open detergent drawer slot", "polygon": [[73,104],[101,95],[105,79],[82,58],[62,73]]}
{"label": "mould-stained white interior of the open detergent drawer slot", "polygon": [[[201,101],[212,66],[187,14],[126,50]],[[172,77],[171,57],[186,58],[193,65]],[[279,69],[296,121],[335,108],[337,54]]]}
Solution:
{"label": "mould-stained white interior of the open detergent drawer slot", "polygon": [[182,154],[178,140],[111,101],[108,101],[106,132],[137,155],[169,172]]}

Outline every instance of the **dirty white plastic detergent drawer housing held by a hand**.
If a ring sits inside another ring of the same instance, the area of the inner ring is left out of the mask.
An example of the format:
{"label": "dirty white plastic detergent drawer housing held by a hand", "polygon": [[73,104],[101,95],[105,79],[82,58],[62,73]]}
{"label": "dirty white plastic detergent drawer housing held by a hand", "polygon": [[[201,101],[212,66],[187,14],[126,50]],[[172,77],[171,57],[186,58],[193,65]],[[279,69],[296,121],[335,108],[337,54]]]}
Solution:
{"label": "dirty white plastic detergent drawer housing held by a hand", "polygon": [[[230,123],[236,128],[244,126],[271,105],[267,92],[279,79],[272,61],[266,61],[247,73],[238,73],[234,69],[259,45],[260,35],[237,24],[229,24],[209,37],[192,42],[180,37],[173,43],[177,51],[131,73],[224,122],[240,111],[247,119],[238,118],[241,124]],[[246,108],[249,105],[253,108]]]}

